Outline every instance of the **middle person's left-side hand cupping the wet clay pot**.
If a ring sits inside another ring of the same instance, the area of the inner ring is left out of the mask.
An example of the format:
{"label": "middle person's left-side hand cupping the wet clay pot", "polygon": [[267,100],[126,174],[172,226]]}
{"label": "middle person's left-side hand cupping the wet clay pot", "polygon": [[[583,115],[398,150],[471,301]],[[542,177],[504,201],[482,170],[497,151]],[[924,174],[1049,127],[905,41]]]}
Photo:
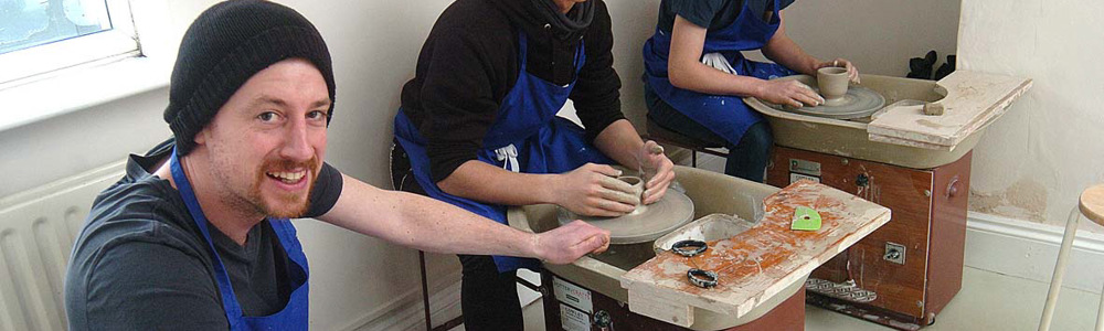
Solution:
{"label": "middle person's left-side hand cupping the wet clay pot", "polygon": [[631,213],[640,202],[633,185],[617,180],[620,170],[606,164],[586,163],[578,169],[558,174],[555,204],[580,215],[620,216]]}

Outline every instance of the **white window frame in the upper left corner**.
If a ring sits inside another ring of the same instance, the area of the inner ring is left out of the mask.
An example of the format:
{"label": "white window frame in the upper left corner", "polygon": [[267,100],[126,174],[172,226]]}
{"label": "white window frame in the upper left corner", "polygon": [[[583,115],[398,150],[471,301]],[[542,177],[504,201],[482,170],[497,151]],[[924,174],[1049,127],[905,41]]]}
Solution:
{"label": "white window frame in the upper left corner", "polygon": [[112,29],[0,54],[0,89],[66,68],[140,56],[129,0],[106,0]]}

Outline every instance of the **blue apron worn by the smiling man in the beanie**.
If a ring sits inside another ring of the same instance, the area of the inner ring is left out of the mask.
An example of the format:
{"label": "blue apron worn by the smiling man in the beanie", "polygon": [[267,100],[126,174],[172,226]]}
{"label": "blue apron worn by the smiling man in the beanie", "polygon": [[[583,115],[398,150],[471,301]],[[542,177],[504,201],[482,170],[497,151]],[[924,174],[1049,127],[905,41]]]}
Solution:
{"label": "blue apron worn by the smiling man in the beanie", "polygon": [[[211,232],[208,229],[208,220],[200,209],[200,203],[195,200],[195,192],[188,182],[188,177],[180,168],[177,159],[177,149],[172,149],[172,159],[169,160],[172,171],[172,179],[177,183],[180,196],[188,205],[188,212],[192,214],[192,221],[200,227],[203,238],[206,239],[208,247],[211,248],[211,259],[214,260],[215,279],[219,281],[219,293],[222,295],[222,308],[226,312],[226,320],[230,322],[230,330],[307,330],[307,256],[302,254],[302,246],[295,236],[295,226],[287,218],[268,218],[273,231],[279,238],[284,252],[291,260],[288,264],[288,279],[291,280],[291,297],[287,300],[287,306],[274,314],[265,317],[245,317],[242,314],[242,306],[237,303],[234,288],[230,285],[230,275],[226,267],[219,257],[214,244],[211,242]],[[276,270],[282,271],[282,270]]]}

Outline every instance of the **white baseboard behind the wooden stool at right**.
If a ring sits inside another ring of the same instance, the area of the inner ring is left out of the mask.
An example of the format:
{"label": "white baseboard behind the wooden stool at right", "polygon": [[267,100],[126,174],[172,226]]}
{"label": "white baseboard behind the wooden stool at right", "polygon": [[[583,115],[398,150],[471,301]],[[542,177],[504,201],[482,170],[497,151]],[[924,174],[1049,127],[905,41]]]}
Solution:
{"label": "white baseboard behind the wooden stool at right", "polygon": [[[1050,282],[1064,226],[976,212],[966,218],[966,266]],[[1079,231],[1070,258],[1062,287],[1100,293],[1104,286],[1104,235]]]}

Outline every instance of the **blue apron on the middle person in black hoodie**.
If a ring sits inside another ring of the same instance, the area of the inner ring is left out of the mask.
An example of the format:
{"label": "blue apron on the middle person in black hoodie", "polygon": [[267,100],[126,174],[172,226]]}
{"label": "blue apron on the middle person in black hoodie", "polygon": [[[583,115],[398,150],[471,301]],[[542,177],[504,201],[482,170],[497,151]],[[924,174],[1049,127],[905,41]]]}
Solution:
{"label": "blue apron on the middle person in black hoodie", "polygon": [[[484,137],[476,157],[479,161],[524,173],[561,173],[587,162],[613,163],[596,148],[586,142],[583,128],[556,117],[556,111],[567,102],[573,81],[560,86],[529,74],[527,66],[528,41],[519,34],[521,63],[518,82],[502,98],[495,122]],[[583,67],[586,55],[582,43],[575,50],[575,72]],[[395,115],[395,137],[411,159],[414,179],[429,196],[465,209],[469,212],[507,224],[506,205],[474,201],[440,191],[429,177],[429,157],[426,140],[400,109]],[[531,258],[493,256],[500,273],[518,268],[537,269],[540,263]]]}

